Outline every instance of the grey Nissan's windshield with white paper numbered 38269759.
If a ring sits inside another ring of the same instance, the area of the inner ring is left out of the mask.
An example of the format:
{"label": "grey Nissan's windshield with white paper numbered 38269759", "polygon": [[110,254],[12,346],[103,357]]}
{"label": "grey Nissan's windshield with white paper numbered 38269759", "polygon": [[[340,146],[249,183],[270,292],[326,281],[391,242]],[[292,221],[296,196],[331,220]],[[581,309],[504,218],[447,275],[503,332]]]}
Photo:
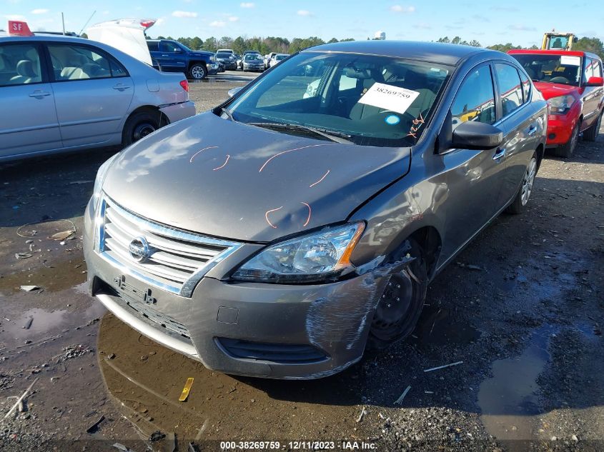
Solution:
{"label": "grey Nissan's windshield with white paper numbered 38269759", "polygon": [[304,125],[364,146],[411,146],[449,74],[447,66],[407,59],[306,51],[275,66],[229,109],[244,123]]}

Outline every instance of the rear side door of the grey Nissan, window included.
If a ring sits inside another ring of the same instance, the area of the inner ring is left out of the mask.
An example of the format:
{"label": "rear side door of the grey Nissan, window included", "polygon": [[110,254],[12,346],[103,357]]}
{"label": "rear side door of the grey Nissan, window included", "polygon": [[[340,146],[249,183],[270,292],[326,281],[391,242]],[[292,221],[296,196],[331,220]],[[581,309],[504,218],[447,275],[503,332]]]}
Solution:
{"label": "rear side door of the grey Nissan, window included", "polygon": [[[495,63],[497,97],[501,105],[501,119],[495,124],[504,132],[500,151],[502,187],[499,205],[511,201],[523,181],[530,158],[539,145],[543,119],[538,109],[530,104],[530,83],[528,77],[512,64]],[[523,79],[520,79],[522,74]],[[525,92],[526,91],[526,92]]]}

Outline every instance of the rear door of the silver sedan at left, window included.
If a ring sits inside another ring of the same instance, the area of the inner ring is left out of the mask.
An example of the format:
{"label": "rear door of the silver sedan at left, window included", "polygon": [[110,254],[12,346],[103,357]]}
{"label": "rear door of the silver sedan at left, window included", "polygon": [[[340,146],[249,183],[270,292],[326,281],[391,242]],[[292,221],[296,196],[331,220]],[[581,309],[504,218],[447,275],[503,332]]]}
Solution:
{"label": "rear door of the silver sedan at left, window included", "polygon": [[134,94],[124,66],[96,46],[53,42],[47,48],[64,146],[119,143]]}

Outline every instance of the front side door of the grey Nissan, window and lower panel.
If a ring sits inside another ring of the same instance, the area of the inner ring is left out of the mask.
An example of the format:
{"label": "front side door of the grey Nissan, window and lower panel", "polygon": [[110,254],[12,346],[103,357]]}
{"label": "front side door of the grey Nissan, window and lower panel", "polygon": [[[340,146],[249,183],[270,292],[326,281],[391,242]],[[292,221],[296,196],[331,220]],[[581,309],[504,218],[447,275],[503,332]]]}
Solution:
{"label": "front side door of the grey Nissan, window and lower panel", "polygon": [[[465,121],[495,124],[495,90],[489,64],[471,69],[451,105],[452,129]],[[500,209],[504,165],[500,149],[451,149],[442,154],[447,172],[447,220],[443,256],[450,256],[485,226]]]}

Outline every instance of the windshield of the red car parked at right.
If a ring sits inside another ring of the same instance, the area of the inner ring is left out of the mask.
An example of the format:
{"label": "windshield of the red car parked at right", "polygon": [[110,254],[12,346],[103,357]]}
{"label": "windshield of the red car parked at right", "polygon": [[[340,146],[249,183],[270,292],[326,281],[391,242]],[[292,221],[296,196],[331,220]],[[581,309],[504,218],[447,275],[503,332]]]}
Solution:
{"label": "windshield of the red car parked at right", "polygon": [[581,57],[572,55],[513,54],[533,81],[579,86]]}

